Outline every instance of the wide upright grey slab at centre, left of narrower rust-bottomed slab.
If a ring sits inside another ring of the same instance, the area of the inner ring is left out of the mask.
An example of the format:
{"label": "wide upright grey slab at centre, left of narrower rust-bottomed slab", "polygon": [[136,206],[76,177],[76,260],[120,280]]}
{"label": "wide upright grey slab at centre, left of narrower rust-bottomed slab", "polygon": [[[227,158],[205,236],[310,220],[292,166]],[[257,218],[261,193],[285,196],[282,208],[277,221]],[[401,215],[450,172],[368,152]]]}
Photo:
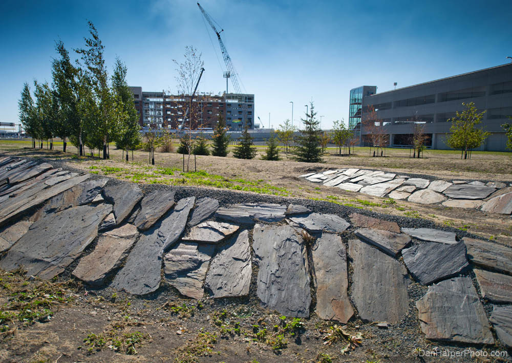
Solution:
{"label": "wide upright grey slab at centre, left of narrower rust-bottomed slab", "polygon": [[308,317],[311,305],[307,252],[292,227],[255,225],[254,255],[259,266],[257,295],[263,305],[291,317]]}

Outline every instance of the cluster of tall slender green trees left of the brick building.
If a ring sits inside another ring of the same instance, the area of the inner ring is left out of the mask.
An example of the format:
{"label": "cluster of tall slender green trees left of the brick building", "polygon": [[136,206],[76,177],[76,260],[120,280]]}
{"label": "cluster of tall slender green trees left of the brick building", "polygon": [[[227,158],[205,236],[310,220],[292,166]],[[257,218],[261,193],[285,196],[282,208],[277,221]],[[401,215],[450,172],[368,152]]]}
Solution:
{"label": "cluster of tall slender green trees left of the brick building", "polygon": [[[92,22],[85,47],[75,49],[80,59],[72,62],[62,41],[57,41],[58,54],[51,62],[52,83],[34,81],[34,92],[25,83],[18,101],[19,119],[26,133],[35,140],[59,137],[66,152],[68,140],[84,155],[84,146],[103,151],[109,157],[108,145],[115,142],[122,150],[133,150],[140,143],[139,116],[133,92],[126,82],[126,66],[116,58],[109,77],[103,57],[104,47]],[[41,143],[42,147],[42,143]]]}

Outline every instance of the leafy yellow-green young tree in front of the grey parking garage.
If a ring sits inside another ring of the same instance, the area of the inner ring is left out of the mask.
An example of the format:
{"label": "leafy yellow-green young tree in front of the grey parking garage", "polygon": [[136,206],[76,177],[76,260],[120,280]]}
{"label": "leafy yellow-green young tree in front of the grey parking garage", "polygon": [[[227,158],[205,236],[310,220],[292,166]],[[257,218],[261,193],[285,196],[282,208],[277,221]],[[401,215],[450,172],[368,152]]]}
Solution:
{"label": "leafy yellow-green young tree in front of the grey parking garage", "polygon": [[457,112],[455,117],[449,120],[452,121],[451,135],[448,136],[446,143],[452,148],[461,150],[461,159],[464,152],[464,159],[467,159],[468,152],[479,147],[490,133],[476,127],[482,123],[486,111],[478,113],[473,102],[462,102],[462,104],[466,109],[461,113]]}

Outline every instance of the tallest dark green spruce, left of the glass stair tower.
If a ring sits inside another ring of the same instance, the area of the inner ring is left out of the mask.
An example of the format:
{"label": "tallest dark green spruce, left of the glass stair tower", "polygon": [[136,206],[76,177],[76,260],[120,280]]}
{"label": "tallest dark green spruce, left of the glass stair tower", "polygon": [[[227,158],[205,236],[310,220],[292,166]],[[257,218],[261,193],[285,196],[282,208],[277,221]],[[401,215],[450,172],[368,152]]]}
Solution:
{"label": "tallest dark green spruce, left of the glass stair tower", "polygon": [[304,130],[301,136],[297,138],[297,145],[294,150],[294,159],[307,163],[318,163],[322,161],[322,146],[320,143],[321,130],[320,122],[315,119],[313,102],[310,102],[309,114],[306,113],[306,119],[301,119],[304,123]]}

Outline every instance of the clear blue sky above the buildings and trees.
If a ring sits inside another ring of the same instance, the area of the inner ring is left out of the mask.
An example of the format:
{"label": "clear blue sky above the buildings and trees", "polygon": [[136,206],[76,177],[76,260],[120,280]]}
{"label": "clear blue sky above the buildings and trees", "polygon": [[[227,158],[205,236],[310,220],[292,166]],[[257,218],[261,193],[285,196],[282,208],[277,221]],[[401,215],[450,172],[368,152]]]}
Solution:
{"label": "clear blue sky above the buildings and trees", "polygon": [[[324,128],[348,122],[349,91],[377,92],[494,67],[512,56],[509,0],[202,0],[255,111],[268,127],[304,116],[313,100]],[[0,4],[0,121],[18,122],[23,83],[51,82],[56,39],[72,53],[95,24],[109,70],[119,56],[131,86],[176,91],[173,59],[202,52],[199,91],[225,90],[216,35],[196,1],[3,1]],[[74,54],[72,54],[75,56]],[[230,91],[232,87],[230,85]]]}

